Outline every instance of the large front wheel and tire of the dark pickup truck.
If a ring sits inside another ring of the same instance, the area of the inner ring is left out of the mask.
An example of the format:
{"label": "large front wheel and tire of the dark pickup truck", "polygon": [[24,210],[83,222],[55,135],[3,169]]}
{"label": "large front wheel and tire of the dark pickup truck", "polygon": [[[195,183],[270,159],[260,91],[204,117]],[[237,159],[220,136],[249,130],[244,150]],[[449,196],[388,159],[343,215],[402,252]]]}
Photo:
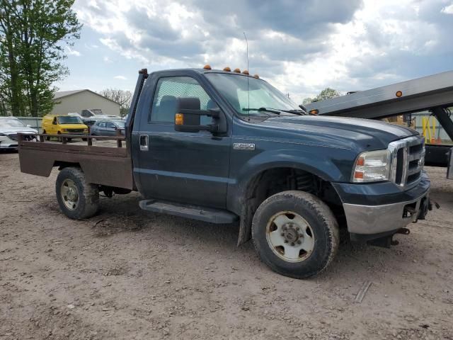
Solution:
{"label": "large front wheel and tire of the dark pickup truck", "polygon": [[261,203],[252,238],[261,261],[292,278],[325,270],[340,241],[338,222],[326,203],[303,191],[283,191]]}

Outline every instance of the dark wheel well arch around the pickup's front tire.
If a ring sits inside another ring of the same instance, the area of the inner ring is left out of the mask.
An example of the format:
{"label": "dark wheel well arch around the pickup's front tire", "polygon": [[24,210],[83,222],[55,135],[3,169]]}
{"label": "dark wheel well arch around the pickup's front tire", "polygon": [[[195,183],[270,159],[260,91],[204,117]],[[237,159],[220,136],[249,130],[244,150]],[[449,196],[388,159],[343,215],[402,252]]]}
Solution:
{"label": "dark wheel well arch around the pickup's front tire", "polygon": [[243,187],[238,245],[251,238],[253,215],[260,204],[276,193],[289,190],[304,191],[319,197],[331,208],[339,223],[345,221],[343,205],[331,182],[294,166],[275,166],[253,175]]}

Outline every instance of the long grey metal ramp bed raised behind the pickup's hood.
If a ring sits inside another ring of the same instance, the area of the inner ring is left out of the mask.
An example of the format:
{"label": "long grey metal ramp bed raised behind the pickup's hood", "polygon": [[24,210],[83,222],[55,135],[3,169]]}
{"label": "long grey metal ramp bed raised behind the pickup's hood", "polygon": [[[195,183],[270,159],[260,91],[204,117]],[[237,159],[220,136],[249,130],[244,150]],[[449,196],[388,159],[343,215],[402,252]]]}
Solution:
{"label": "long grey metal ramp bed raised behind the pickup's hood", "polygon": [[453,71],[326,99],[305,107],[307,111],[317,110],[318,115],[378,119],[448,106],[453,106]]}

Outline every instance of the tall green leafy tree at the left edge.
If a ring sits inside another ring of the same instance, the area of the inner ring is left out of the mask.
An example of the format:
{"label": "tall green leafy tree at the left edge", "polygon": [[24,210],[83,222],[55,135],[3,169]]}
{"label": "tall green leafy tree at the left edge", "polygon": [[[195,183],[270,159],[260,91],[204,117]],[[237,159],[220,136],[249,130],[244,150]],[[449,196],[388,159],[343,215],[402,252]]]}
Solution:
{"label": "tall green leafy tree at the left edge", "polygon": [[6,78],[0,89],[13,114],[25,111],[38,116],[52,110],[57,91],[52,84],[69,74],[62,64],[65,48],[80,38],[81,24],[73,4],[74,0],[0,0],[0,22],[4,23],[0,74]]}

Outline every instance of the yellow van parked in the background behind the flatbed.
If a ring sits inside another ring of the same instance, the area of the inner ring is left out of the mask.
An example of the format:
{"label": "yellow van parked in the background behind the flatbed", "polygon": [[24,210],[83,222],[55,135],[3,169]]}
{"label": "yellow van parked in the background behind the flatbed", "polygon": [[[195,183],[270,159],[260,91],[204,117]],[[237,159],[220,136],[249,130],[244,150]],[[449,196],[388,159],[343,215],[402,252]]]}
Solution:
{"label": "yellow van parked in the background behind the flatbed", "polygon": [[45,115],[42,133],[47,135],[88,135],[88,126],[74,115]]}

